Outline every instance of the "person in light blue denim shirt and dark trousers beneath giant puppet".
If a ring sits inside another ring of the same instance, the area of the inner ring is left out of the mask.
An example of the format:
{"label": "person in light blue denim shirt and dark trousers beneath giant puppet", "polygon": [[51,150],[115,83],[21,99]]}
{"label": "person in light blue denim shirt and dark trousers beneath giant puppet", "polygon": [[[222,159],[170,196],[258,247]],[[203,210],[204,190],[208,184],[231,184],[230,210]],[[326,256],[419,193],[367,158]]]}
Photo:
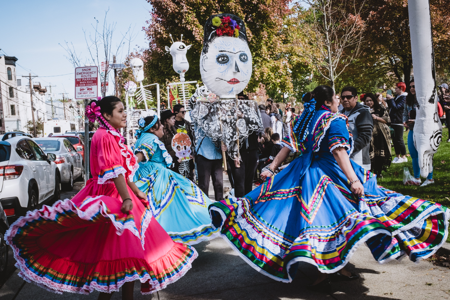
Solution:
{"label": "person in light blue denim shirt and dark trousers beneath giant puppet", "polygon": [[195,161],[197,163],[198,187],[209,197],[209,178],[212,178],[214,196],[216,201],[223,200],[224,179],[222,171],[222,150],[216,147],[212,139],[203,132],[202,128],[194,125],[195,136],[198,137],[195,145]]}

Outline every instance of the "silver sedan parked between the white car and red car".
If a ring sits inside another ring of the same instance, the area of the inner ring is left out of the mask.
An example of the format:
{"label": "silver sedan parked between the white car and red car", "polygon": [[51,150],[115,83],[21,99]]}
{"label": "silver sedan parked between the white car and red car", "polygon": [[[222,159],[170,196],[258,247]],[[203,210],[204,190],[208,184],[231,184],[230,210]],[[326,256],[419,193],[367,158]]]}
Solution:
{"label": "silver sedan parked between the white car and red car", "polygon": [[56,155],[55,163],[61,174],[61,185],[66,191],[72,191],[73,182],[83,179],[83,157],[66,138],[36,138],[34,141],[45,153]]}

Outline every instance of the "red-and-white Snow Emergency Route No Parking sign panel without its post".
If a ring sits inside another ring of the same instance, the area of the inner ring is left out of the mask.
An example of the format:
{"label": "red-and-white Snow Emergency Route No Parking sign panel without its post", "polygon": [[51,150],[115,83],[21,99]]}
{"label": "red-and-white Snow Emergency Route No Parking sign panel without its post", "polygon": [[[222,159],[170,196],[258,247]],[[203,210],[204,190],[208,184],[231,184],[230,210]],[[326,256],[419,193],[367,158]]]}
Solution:
{"label": "red-and-white Snow Emergency Route No Parking sign panel without its post", "polygon": [[99,67],[75,68],[75,99],[96,99]]}

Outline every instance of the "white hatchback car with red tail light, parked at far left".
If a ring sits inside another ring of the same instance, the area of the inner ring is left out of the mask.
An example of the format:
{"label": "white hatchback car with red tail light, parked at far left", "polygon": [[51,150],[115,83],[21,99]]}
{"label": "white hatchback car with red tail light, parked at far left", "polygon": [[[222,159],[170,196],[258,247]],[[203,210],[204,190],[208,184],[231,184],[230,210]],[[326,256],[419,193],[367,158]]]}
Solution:
{"label": "white hatchback car with red tail light, parked at far left", "polygon": [[9,219],[61,197],[56,155],[27,136],[0,141],[0,202]]}

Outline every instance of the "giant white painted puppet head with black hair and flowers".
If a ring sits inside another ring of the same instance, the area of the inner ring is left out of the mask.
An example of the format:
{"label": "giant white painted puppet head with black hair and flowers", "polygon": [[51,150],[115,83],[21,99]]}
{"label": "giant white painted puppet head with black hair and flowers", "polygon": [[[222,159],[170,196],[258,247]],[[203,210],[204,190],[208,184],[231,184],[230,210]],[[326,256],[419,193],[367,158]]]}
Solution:
{"label": "giant white painted puppet head with black hair and flowers", "polygon": [[245,89],[252,77],[252,54],[240,18],[221,13],[208,19],[200,74],[207,88],[222,99],[235,98]]}

